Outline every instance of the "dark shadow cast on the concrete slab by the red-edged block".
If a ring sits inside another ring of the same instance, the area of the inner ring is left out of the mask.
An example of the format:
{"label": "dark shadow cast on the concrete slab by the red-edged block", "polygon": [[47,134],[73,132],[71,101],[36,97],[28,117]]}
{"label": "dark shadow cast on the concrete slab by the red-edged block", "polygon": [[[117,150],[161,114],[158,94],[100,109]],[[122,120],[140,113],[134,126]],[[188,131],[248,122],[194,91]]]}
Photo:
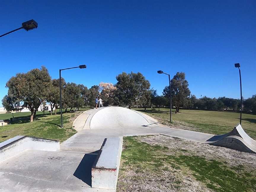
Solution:
{"label": "dark shadow cast on the concrete slab by the red-edged block", "polygon": [[92,165],[97,158],[97,153],[99,151],[94,151],[92,153],[84,154],[83,159],[76,168],[74,176],[89,186],[92,186]]}

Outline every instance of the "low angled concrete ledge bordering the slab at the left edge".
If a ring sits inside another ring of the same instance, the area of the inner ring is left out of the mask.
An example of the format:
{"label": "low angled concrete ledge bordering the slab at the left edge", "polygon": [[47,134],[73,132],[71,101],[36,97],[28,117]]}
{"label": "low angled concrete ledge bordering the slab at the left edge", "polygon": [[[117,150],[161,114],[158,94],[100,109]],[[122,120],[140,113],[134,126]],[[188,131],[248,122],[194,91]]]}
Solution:
{"label": "low angled concrete ledge bordering the slab at the left edge", "polygon": [[60,142],[30,136],[16,136],[0,143],[0,163],[25,150],[57,151]]}

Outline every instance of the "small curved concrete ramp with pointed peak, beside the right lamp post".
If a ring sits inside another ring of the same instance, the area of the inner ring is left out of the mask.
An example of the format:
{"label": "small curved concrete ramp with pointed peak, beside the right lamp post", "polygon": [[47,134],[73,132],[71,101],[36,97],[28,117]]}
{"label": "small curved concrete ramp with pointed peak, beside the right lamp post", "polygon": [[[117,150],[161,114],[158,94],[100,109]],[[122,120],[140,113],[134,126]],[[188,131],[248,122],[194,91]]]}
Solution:
{"label": "small curved concrete ramp with pointed peak, beside the right lamp post", "polygon": [[256,141],[246,134],[240,124],[236,125],[231,132],[223,135],[215,135],[205,143],[243,152],[256,153]]}

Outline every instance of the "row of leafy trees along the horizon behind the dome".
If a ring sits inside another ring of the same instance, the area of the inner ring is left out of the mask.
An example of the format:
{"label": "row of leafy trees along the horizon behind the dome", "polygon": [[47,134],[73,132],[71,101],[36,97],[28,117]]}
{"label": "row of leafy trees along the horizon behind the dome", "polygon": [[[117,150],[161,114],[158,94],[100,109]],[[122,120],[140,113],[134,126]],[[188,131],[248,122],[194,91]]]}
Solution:
{"label": "row of leafy trees along the horizon behind the dome", "polygon": [[[169,89],[171,88],[172,106],[175,113],[180,108],[203,109],[203,110],[239,110],[239,100],[219,97],[203,97],[197,99],[191,95],[188,88],[188,81],[185,73],[177,72],[171,80],[171,87],[166,86],[163,95],[157,95],[156,90],[150,89],[150,82],[141,73],[121,73],[116,76],[117,83],[104,83],[87,88],[83,84],[66,83],[61,79],[62,84],[62,106],[65,111],[75,111],[83,106],[95,106],[95,98],[101,97],[104,106],[118,105],[147,107],[169,106]],[[60,103],[60,79],[52,79],[44,66],[41,69],[32,69],[27,73],[17,73],[6,83],[8,94],[4,96],[2,105],[7,111],[21,111],[28,108],[31,111],[31,121],[41,104],[48,103],[53,108],[59,108]],[[256,95],[244,101],[243,111],[256,113]],[[56,110],[55,110],[56,114]]]}

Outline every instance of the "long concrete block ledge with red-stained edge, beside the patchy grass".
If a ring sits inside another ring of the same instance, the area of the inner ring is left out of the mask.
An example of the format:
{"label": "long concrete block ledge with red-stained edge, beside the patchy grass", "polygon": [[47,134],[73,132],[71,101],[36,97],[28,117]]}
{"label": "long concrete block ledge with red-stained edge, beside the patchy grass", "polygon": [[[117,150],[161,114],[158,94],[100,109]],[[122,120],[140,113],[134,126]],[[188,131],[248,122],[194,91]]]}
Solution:
{"label": "long concrete block ledge with red-stained edge, beside the patchy grass", "polygon": [[92,187],[116,190],[123,137],[106,138],[92,166]]}

